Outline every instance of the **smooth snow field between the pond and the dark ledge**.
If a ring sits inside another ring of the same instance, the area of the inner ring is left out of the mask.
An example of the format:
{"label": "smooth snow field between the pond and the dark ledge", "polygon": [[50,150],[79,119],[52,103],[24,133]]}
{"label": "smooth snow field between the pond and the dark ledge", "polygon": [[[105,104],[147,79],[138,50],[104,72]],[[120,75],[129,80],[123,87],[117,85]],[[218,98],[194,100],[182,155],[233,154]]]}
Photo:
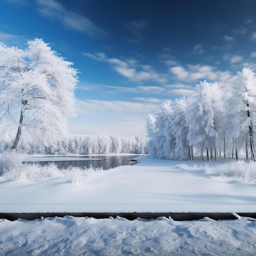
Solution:
{"label": "smooth snow field between the pond and the dark ledge", "polygon": [[[205,161],[136,160],[140,163],[96,174],[82,184],[68,183],[65,177],[24,183],[1,177],[1,212],[255,212],[255,183],[175,168],[177,163],[200,166]],[[209,166],[223,162],[213,160]]]}

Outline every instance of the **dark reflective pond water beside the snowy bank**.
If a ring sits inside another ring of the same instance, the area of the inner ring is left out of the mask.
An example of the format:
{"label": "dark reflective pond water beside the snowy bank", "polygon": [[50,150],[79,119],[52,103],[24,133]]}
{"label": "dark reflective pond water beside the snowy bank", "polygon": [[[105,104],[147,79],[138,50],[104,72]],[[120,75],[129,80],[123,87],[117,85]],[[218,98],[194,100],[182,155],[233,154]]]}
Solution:
{"label": "dark reflective pond water beside the snowy bank", "polygon": [[[76,167],[90,167],[92,165],[94,168],[103,167],[103,170],[108,170],[110,168],[118,167],[121,165],[131,165],[136,163],[136,161],[132,160],[137,155],[86,155],[86,156],[71,156],[68,155],[67,157],[79,157],[79,158],[105,158],[105,160],[99,160],[99,161],[60,161],[60,162],[54,162],[58,168],[68,168],[70,165],[76,166]],[[57,157],[57,156],[51,156],[51,157]],[[64,157],[64,156],[63,156]],[[40,165],[44,166],[50,162],[39,162]]]}

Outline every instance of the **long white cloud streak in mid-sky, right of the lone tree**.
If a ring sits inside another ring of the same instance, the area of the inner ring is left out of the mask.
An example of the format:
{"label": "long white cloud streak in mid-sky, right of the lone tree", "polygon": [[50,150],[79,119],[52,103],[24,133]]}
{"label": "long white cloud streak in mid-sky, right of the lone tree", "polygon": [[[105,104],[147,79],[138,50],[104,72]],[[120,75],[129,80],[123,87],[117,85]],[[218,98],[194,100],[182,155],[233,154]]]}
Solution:
{"label": "long white cloud streak in mid-sky, right of the lone tree", "polygon": [[[123,75],[126,78],[129,78],[131,81],[148,81],[153,80],[158,83],[166,83],[167,79],[164,75],[156,73],[150,65],[138,65],[138,61],[135,59],[129,59],[127,61],[119,59],[108,59],[104,53],[96,53],[95,55],[90,53],[83,53],[84,56],[87,56],[94,60],[104,61],[109,63],[112,66],[112,69],[117,71],[120,75]],[[143,69],[138,71],[135,66]]]}

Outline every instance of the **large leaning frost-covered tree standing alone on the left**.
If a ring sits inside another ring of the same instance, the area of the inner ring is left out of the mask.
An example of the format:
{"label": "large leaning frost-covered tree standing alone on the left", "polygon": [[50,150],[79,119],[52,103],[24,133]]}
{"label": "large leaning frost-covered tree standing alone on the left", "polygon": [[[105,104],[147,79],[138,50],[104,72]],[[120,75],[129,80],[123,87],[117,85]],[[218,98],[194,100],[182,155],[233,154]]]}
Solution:
{"label": "large leaning frost-covered tree standing alone on the left", "polygon": [[65,137],[67,119],[75,115],[72,65],[42,39],[24,50],[0,43],[0,121],[17,126],[12,149],[24,132],[44,146]]}

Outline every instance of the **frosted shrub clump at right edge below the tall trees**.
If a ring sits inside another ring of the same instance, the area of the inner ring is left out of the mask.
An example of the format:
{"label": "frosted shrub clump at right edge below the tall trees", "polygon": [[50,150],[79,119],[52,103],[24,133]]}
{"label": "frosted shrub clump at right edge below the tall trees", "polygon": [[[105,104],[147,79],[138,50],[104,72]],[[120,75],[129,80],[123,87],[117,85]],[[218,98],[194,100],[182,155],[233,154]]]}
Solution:
{"label": "frosted shrub clump at right edge below the tall trees", "polygon": [[256,164],[253,161],[246,163],[243,160],[230,161],[218,165],[216,172],[223,177],[228,177],[233,182],[256,182]]}

